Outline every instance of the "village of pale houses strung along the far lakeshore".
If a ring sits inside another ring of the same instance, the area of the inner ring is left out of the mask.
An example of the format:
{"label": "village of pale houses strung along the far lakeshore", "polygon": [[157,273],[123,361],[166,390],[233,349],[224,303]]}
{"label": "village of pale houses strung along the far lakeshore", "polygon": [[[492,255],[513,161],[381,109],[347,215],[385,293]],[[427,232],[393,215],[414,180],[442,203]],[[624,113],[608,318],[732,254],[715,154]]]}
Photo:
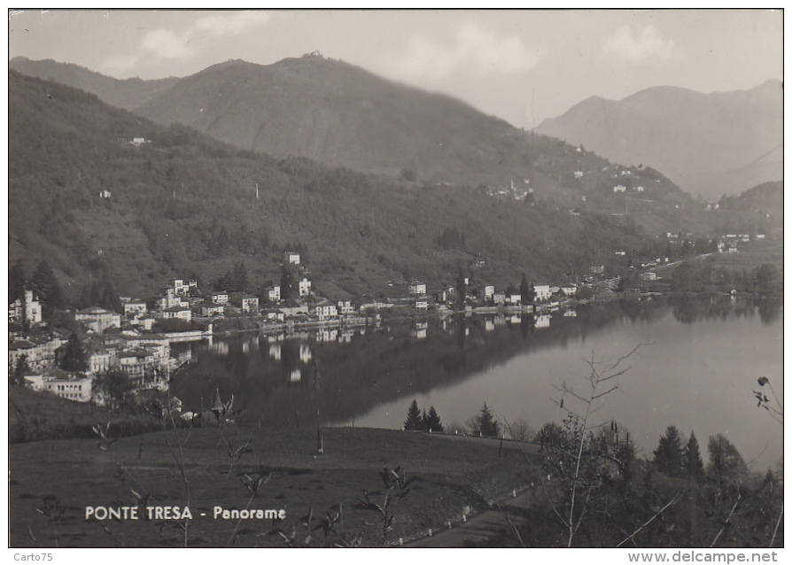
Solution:
{"label": "village of pale houses strung along the far lakeshore", "polygon": [[[676,235],[667,236],[669,240],[677,239]],[[745,242],[746,237],[727,235],[726,243],[718,244],[718,252],[737,252],[737,243]],[[756,238],[764,239],[763,236]],[[616,254],[624,255],[625,252],[617,251]],[[668,265],[668,262],[666,257],[641,263],[641,279],[656,281],[659,277],[653,269]],[[497,314],[486,319],[488,330],[507,320],[519,323],[525,315],[533,316],[536,328],[547,328],[552,313],[563,308],[563,316],[576,316],[577,304],[585,303],[595,292],[615,290],[619,282],[619,277],[606,277],[604,266],[594,265],[579,284],[531,284],[525,295],[521,292],[525,288],[496,290],[492,284],[471,284],[470,277],[464,277],[459,281],[465,285],[464,300],[453,286],[430,295],[426,283],[414,281],[408,283],[406,298],[388,298],[385,302],[361,305],[349,300],[332,304],[312,290],[307,271],[300,266],[298,252],[284,252],[283,264],[301,276],[296,284],[298,296],[289,301],[283,299],[281,287],[277,285],[266,290],[266,303],[260,305],[259,297],[245,292],[204,292],[196,281],[175,279],[151,301],[121,297],[123,313],[99,306],[69,312],[79,333],[85,336],[79,345],[85,356],[86,370],[82,371],[64,370],[61,362],[62,357],[69,354],[67,349],[75,332],[50,328],[43,321],[39,298],[32,290],[26,290],[24,298],[9,305],[9,375],[35,391],[48,391],[62,399],[105,406],[108,399],[95,386],[97,376],[114,369],[128,377],[134,391],[167,391],[170,377],[190,362],[189,349],[174,356],[171,344],[204,339],[211,344],[214,336],[223,333],[222,329],[218,330],[224,325],[223,321],[243,319],[247,322],[246,328],[275,335],[311,329],[316,331],[319,342],[348,342],[355,328],[380,325],[384,313],[402,313],[415,316],[413,336],[422,339],[426,337],[425,318],[430,312],[440,317],[448,316],[464,304],[464,312],[469,315]],[[484,266],[484,259],[477,259],[472,265]],[[167,325],[171,320],[180,321],[171,326],[190,329],[162,330],[162,322],[166,321],[164,325]]]}

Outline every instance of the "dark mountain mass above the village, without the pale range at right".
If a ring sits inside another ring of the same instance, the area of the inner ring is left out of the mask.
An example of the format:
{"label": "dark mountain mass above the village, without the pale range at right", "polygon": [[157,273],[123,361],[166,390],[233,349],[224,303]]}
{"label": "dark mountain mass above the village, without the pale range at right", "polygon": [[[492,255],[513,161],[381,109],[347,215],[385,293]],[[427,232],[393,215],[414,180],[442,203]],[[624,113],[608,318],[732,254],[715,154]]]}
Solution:
{"label": "dark mountain mass above the village, without the pale range at right", "polygon": [[716,225],[650,166],[326,58],[151,83],[11,66],[75,88],[9,73],[10,259],[48,259],[78,288],[110,276],[145,296],[242,261],[255,291],[279,278],[286,249],[331,298],[386,296],[412,278],[437,287],[460,268],[505,287],[592,263],[613,272],[617,250],[656,257],[657,234]]}

